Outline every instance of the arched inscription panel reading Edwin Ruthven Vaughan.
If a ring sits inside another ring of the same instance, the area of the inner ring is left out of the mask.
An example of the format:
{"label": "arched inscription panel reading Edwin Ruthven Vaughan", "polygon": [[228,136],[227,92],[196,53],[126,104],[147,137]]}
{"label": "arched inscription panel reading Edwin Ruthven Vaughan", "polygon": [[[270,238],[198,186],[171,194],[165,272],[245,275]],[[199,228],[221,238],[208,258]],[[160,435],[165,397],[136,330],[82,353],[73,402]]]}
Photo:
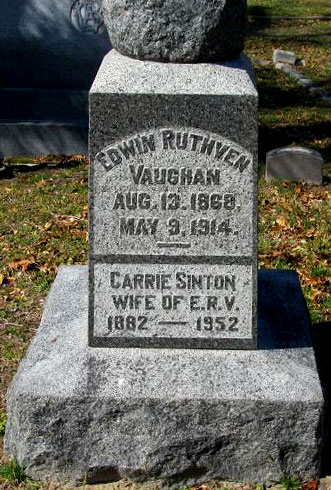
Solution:
{"label": "arched inscription panel reading Edwin Ruthven Vaughan", "polygon": [[251,255],[252,155],[239,145],[159,129],[107,146],[93,167],[93,253]]}

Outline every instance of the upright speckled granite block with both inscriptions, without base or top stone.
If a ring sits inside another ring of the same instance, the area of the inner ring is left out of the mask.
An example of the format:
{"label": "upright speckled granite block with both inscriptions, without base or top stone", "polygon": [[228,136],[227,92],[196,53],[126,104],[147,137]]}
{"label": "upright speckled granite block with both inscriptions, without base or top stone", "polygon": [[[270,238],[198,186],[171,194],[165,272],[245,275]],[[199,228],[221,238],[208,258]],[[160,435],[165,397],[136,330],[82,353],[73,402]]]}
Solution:
{"label": "upright speckled granite block with both inscriptions, without base or top stone", "polygon": [[106,56],[90,92],[90,345],[256,346],[256,106],[245,56]]}

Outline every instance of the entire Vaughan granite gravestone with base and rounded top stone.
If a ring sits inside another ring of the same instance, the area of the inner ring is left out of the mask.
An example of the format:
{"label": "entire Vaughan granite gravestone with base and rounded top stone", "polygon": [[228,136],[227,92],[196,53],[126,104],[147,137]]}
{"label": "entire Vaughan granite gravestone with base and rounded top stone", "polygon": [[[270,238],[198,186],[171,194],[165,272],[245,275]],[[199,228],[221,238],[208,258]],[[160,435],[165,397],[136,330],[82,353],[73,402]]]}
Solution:
{"label": "entire Vaughan granite gravestone with base and rounded top stone", "polygon": [[90,91],[89,271],[59,271],[10,388],[7,452],[75,482],[314,478],[307,308],[294,272],[257,280],[257,92],[223,31],[242,33],[245,3],[104,5],[121,54]]}

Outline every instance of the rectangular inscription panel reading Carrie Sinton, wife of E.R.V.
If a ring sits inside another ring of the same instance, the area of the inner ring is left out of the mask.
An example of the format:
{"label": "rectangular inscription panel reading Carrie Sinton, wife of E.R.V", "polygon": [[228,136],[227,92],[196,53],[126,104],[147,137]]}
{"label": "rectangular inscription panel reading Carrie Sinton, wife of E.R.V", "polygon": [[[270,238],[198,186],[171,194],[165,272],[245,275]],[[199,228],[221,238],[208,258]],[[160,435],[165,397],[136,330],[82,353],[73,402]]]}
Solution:
{"label": "rectangular inscription panel reading Carrie Sinton, wife of E.R.V", "polygon": [[249,266],[97,264],[94,275],[96,336],[251,335]]}

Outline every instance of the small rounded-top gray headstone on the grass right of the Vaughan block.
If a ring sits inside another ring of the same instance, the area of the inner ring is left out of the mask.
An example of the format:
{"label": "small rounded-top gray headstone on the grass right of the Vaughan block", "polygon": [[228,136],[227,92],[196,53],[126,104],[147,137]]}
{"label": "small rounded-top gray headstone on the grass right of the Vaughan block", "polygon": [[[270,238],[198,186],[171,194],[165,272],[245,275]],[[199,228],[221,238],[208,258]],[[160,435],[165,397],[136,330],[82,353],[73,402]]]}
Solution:
{"label": "small rounded-top gray headstone on the grass right of the Vaughan block", "polygon": [[321,184],[323,163],[321,154],[309,148],[276,148],[267,153],[265,178]]}

